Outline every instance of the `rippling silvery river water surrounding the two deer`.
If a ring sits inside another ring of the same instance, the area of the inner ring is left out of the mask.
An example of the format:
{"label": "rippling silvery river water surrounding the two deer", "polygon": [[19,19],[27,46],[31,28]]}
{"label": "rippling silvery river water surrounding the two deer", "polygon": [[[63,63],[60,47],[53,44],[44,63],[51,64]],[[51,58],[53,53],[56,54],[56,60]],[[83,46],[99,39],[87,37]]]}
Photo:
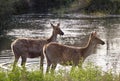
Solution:
{"label": "rippling silvery river water surrounding the two deer", "polygon": [[[89,34],[92,31],[97,31],[99,37],[106,44],[98,45],[96,52],[90,55],[84,64],[90,61],[100,66],[103,71],[112,69],[114,73],[120,72],[119,15],[102,17],[79,14],[64,14],[62,16],[24,14],[15,16],[13,22],[10,23],[13,28],[8,30],[6,35],[0,37],[0,66],[9,69],[9,66],[13,63],[14,56],[10,49],[12,41],[21,37],[48,38],[52,33],[50,23],[60,23],[65,35],[58,36],[57,41],[66,45],[84,46],[87,43]],[[26,67],[28,69],[39,69],[39,58],[27,59]]]}

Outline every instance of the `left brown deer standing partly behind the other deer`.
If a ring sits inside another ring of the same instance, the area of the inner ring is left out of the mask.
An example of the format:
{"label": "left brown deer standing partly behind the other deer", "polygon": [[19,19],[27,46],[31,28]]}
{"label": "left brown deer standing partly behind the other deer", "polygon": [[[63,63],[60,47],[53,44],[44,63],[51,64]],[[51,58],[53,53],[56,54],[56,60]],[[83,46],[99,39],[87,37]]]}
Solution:
{"label": "left brown deer standing partly behind the other deer", "polygon": [[53,27],[52,36],[48,39],[30,39],[30,38],[20,38],[16,39],[11,44],[11,49],[14,53],[15,60],[13,64],[13,70],[19,60],[22,58],[21,66],[25,67],[25,63],[27,58],[35,58],[41,57],[40,67],[43,67],[43,46],[50,42],[56,42],[57,35],[64,35],[63,31],[60,29],[60,24],[58,23],[57,26]]}

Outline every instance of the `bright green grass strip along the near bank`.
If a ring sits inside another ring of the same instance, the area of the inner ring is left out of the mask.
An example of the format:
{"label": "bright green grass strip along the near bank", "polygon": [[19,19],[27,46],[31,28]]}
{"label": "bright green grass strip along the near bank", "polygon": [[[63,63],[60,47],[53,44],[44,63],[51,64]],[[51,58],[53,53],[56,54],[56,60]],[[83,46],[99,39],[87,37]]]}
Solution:
{"label": "bright green grass strip along the near bank", "polygon": [[59,70],[43,74],[40,70],[26,71],[16,68],[15,71],[0,70],[0,81],[120,81],[120,75],[102,72],[99,67],[73,67],[70,72]]}

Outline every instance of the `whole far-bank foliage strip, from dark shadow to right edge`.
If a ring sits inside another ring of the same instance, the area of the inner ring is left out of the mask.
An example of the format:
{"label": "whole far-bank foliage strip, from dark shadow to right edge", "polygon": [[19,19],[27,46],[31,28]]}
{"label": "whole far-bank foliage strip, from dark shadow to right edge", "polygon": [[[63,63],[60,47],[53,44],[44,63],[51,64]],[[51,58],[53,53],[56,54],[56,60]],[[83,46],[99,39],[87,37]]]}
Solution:
{"label": "whole far-bank foliage strip, from dark shadow to right edge", "polygon": [[31,0],[35,12],[120,13],[120,0]]}

